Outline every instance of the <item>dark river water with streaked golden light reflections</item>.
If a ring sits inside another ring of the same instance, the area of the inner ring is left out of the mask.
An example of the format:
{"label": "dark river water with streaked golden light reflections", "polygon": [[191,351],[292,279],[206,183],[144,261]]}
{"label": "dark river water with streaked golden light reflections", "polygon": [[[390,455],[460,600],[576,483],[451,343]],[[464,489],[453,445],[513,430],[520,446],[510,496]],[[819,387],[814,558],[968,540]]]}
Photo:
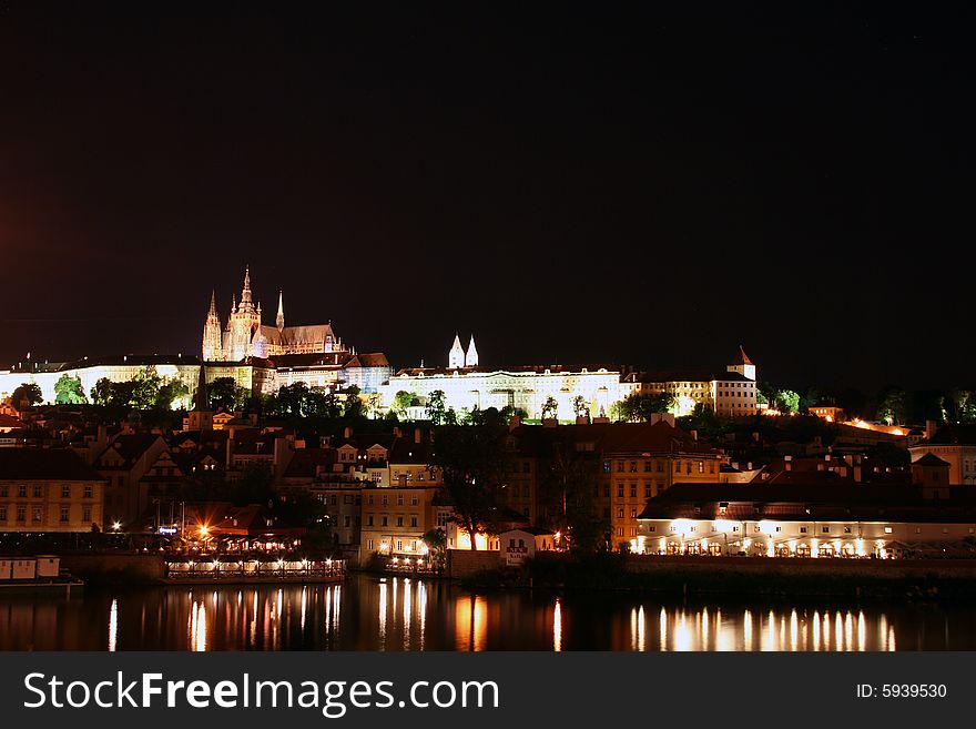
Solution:
{"label": "dark river water with streaked golden light reflections", "polygon": [[976,605],[471,595],[436,580],[0,597],[2,650],[976,650]]}

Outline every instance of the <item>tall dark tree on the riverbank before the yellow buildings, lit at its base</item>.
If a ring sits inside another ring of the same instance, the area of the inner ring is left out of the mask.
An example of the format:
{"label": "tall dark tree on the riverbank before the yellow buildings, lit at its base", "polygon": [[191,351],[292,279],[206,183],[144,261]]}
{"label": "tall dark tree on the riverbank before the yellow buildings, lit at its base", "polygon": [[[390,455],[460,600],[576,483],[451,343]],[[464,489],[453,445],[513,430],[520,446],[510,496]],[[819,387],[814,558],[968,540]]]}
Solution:
{"label": "tall dark tree on the riverbank before the yellow buildings, lit at its base", "polygon": [[491,533],[498,518],[499,494],[509,472],[508,428],[443,426],[435,435],[434,465],[441,469],[444,488],[454,504],[455,522],[471,537]]}

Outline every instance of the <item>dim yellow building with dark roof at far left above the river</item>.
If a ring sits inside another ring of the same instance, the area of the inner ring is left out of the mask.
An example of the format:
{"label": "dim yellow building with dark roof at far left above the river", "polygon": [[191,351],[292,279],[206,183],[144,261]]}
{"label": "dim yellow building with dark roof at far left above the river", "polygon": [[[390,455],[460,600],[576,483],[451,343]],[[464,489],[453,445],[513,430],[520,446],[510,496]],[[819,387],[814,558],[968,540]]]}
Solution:
{"label": "dim yellow building with dark roof at far left above the river", "polygon": [[104,529],[105,479],[74,452],[0,449],[0,531]]}

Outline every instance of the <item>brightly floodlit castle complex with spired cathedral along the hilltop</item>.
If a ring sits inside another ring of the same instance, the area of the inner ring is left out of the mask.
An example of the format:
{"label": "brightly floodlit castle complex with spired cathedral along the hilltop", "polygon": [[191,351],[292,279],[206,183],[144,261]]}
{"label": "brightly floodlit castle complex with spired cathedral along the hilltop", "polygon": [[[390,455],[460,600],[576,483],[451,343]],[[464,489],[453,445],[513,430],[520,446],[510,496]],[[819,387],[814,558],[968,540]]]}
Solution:
{"label": "brightly floodlit castle complex with spired cathedral along the hilltop", "polygon": [[[529,418],[542,417],[545,409],[560,419],[575,419],[580,412],[606,417],[614,403],[634,394],[670,394],[675,415],[690,414],[697,405],[716,415],[735,417],[759,411],[756,368],[741,348],[724,372],[693,374],[637,372],[610,364],[519,365],[485,367],[479,362],[475,337],[467,347],[456,334],[448,352],[447,367],[404,368],[394,374],[383,353],[357,353],[336,335],[332,322],[285,326],[284,295],[278,291],[275,323],[262,322],[261,302],[251,288],[251,270],[244,271],[241,297],[232,298],[226,322],[217,314],[216,296],[211,293],[210,310],[203,325],[201,357],[177,355],[116,355],[83,357],[75,362],[28,362],[0,371],[0,398],[8,397],[21,383],[41,387],[47,402],[54,401],[54,384],[62,376],[77,378],[85,392],[99,379],[128,382],[145,367],[160,376],[181,379],[191,391],[203,367],[205,382],[232,377],[253,395],[271,394],[281,387],[304,383],[308,387],[378,395],[375,413],[393,407],[398,392],[415,395],[423,405],[440,391],[445,405],[456,412],[499,409],[510,406]],[[186,405],[189,397],[174,406]],[[552,407],[555,405],[555,408]],[[423,415],[418,415],[423,416]]]}

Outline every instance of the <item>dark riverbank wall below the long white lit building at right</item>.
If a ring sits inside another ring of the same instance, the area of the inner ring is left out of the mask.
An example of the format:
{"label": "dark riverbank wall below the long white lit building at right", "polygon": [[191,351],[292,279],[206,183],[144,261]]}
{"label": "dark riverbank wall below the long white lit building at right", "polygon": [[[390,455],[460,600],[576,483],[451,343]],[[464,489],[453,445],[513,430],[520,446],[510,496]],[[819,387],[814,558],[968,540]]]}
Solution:
{"label": "dark riverbank wall below the long white lit building at right", "polygon": [[976,599],[976,560],[553,555],[518,569],[482,569],[460,581],[476,590],[533,587],[684,596]]}

